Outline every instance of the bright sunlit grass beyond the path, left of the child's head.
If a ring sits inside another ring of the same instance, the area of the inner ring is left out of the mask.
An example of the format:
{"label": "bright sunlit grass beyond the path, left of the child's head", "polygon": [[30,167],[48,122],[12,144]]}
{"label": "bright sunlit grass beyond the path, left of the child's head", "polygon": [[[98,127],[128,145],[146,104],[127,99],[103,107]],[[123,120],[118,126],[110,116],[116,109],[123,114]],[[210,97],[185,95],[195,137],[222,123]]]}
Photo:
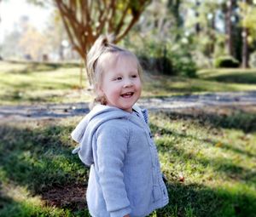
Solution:
{"label": "bright sunlit grass beyond the path, left of the child's head", "polygon": [[[2,105],[90,99],[90,93],[79,89],[80,68],[74,64],[0,62],[0,76]],[[84,81],[84,89],[86,85]]]}

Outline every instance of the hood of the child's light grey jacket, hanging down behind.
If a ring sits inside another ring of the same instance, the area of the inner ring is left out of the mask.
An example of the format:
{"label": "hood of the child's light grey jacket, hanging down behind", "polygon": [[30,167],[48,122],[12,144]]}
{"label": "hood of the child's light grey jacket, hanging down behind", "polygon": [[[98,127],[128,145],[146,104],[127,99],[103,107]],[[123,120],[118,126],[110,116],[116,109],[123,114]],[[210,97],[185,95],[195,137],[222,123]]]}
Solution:
{"label": "hood of the child's light grey jacket, hanging down behind", "polygon": [[92,140],[93,135],[96,133],[96,129],[108,120],[129,118],[130,116],[131,114],[129,112],[116,107],[102,105],[95,106],[90,113],[82,119],[71,134],[73,140],[79,143],[79,146],[73,150],[73,154],[79,153],[81,161],[85,165],[90,166],[94,163]]}

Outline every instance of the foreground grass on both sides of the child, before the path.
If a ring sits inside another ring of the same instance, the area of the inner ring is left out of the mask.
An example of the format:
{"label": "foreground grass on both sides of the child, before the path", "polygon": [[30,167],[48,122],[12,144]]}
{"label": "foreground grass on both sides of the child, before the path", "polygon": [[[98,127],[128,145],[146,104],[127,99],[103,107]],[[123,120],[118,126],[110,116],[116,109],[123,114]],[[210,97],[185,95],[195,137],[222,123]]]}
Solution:
{"label": "foreground grass on both sides of the child, before the path", "polygon": [[[0,216],[89,216],[88,170],[69,136],[79,119],[2,124]],[[170,203],[151,216],[255,216],[255,120],[236,110],[152,113]]]}

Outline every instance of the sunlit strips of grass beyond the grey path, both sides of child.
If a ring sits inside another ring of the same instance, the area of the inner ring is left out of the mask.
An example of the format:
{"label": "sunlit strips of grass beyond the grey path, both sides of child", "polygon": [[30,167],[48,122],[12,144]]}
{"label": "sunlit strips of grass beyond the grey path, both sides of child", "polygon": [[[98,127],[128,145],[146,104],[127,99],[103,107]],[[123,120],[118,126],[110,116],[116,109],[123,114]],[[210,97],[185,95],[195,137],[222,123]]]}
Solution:
{"label": "sunlit strips of grass beyond the grey path, both sides of child", "polygon": [[[167,77],[145,72],[143,97],[256,90],[255,70],[205,70],[198,78]],[[92,93],[75,64],[0,61],[1,105],[88,101]],[[242,82],[241,82],[242,81]]]}

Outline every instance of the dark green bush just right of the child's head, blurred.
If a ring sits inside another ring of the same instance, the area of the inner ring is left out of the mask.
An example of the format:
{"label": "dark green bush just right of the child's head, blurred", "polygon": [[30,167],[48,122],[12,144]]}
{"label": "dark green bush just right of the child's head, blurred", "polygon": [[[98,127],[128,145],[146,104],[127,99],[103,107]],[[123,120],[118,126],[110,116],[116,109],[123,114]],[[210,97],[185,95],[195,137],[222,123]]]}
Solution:
{"label": "dark green bush just right of the child's head, blurred", "polygon": [[195,77],[197,67],[183,44],[144,40],[135,48],[143,68],[171,76]]}

